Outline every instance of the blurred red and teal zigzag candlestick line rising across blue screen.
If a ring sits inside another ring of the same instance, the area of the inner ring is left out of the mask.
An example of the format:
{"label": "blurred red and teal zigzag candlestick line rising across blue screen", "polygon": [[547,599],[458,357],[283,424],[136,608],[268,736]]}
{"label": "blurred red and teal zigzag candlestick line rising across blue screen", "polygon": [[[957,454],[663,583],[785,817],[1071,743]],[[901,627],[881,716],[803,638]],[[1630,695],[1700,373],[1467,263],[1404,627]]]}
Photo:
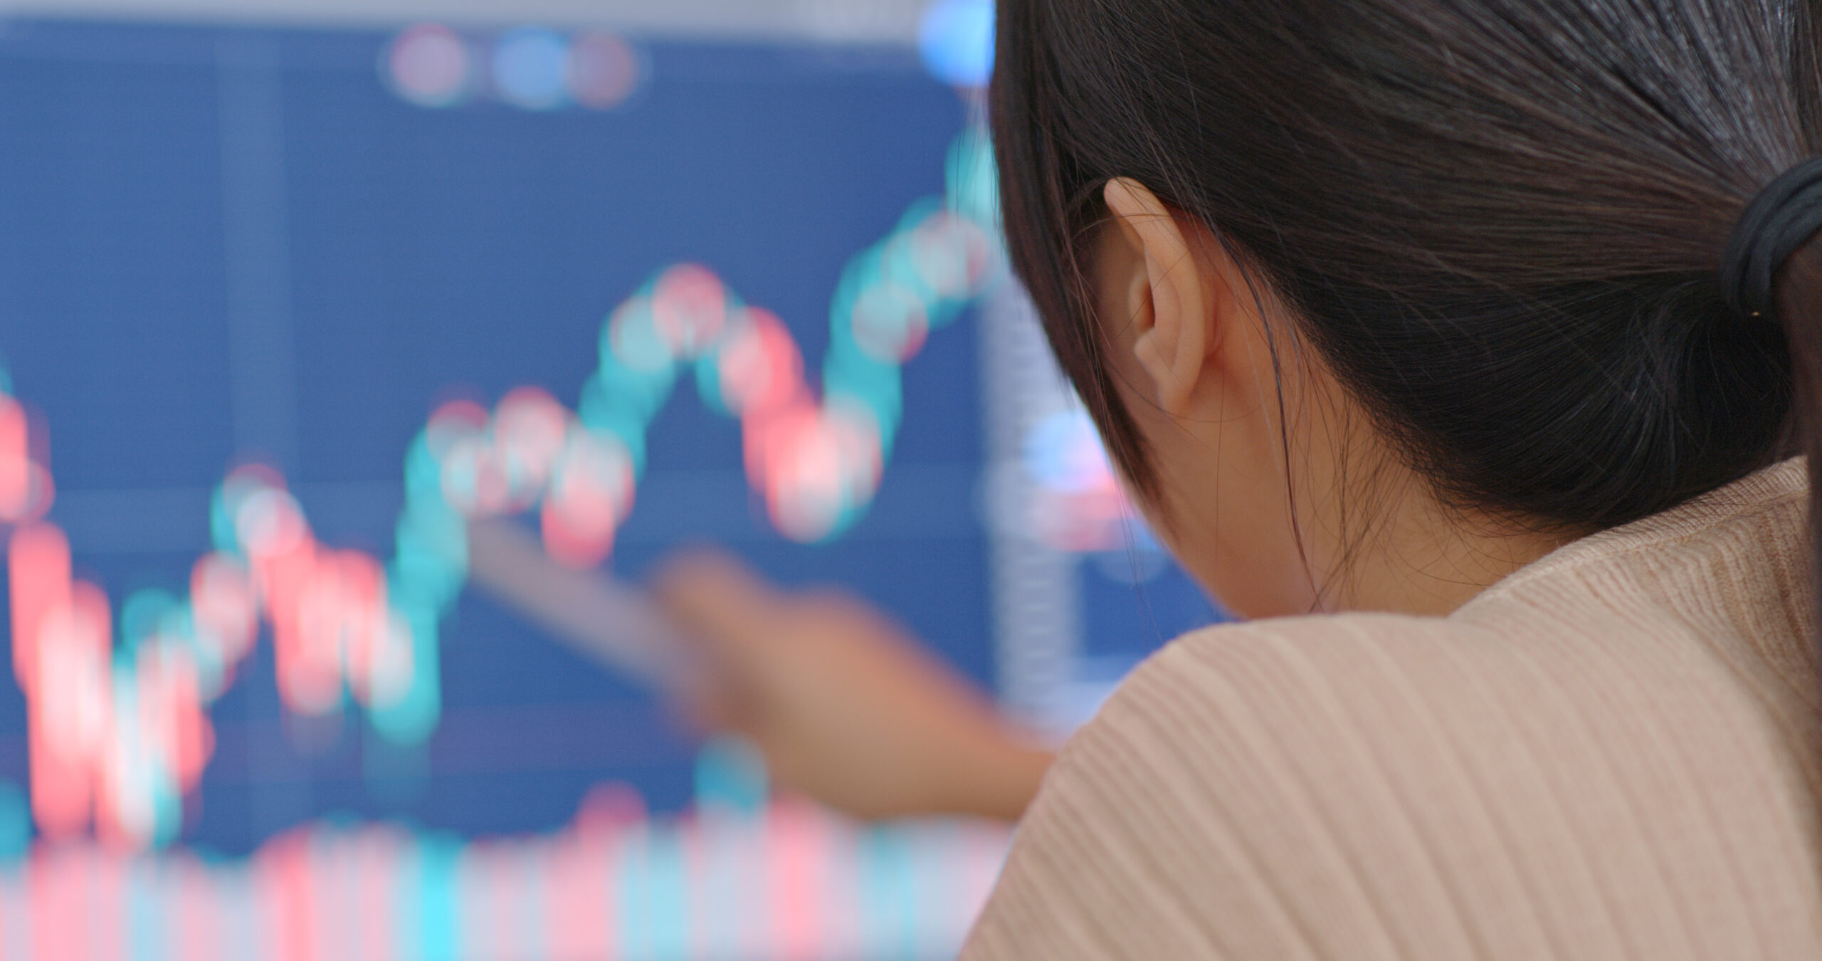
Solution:
{"label": "blurred red and teal zigzag candlestick line rising across blue screen", "polygon": [[946,197],[915,204],[842,274],[820,390],[774,314],[703,266],[663,270],[609,315],[578,410],[527,387],[492,410],[456,401],[432,414],[406,454],[390,560],[319,542],[281,474],[242,467],[215,492],[215,549],[195,562],[189,594],[131,594],[118,624],[102,589],[71,576],[69,540],[46,520],[46,458],[18,399],[0,394],[13,667],[38,832],[93,828],[118,850],[171,842],[211,753],[208,708],[262,627],[290,711],[333,715],[352,700],[392,742],[430,737],[466,523],[536,512],[554,560],[603,562],[636,500],[647,427],[680,383],[740,419],[749,481],[783,536],[842,534],[891,458],[900,367],[1000,275],[995,210],[993,157],[969,131],[949,151]]}

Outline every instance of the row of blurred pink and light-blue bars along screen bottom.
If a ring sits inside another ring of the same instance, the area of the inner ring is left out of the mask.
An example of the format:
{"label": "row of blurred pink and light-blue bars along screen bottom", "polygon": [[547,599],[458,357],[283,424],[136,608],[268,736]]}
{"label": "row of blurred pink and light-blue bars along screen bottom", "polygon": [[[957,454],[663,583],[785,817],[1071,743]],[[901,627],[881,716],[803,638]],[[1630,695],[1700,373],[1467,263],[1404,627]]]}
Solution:
{"label": "row of blurred pink and light-blue bars along screen bottom", "polygon": [[18,961],[946,959],[1008,844],[780,801],[669,822],[605,788],[552,835],[315,824],[251,859],[40,846],[0,870]]}

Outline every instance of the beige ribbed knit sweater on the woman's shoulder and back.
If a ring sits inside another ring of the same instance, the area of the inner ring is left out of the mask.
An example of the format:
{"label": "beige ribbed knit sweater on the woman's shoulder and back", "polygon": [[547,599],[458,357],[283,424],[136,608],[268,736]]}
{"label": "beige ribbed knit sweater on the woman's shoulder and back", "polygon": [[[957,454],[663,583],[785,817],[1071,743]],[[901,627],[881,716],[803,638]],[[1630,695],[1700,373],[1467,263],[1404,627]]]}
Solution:
{"label": "beige ribbed knit sweater on the woman's shoulder and back", "polygon": [[1822,959],[1806,511],[1787,461],[1447,618],[1177,640],[962,959]]}

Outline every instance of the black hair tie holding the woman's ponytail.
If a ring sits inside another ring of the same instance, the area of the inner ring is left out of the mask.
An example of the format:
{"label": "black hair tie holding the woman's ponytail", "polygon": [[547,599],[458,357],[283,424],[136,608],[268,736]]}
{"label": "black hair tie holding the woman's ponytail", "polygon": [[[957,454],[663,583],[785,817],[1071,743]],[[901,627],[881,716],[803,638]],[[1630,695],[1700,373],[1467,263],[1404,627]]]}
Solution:
{"label": "black hair tie holding the woman's ponytail", "polygon": [[1776,315],[1778,270],[1817,232],[1822,232],[1822,157],[1784,171],[1740,215],[1720,264],[1727,305],[1742,317]]}

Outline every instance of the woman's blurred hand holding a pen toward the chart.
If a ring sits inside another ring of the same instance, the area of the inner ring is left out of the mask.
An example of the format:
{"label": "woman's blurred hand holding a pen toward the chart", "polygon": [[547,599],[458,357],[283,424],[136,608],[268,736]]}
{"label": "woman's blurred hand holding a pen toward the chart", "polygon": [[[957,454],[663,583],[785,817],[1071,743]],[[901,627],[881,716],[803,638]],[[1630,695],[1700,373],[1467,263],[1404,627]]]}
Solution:
{"label": "woman's blurred hand holding a pen toward the chart", "polygon": [[780,788],[865,819],[1017,821],[1037,793],[1051,755],[864,602],[718,553],[672,560],[656,594],[703,646],[685,709],[752,740]]}

